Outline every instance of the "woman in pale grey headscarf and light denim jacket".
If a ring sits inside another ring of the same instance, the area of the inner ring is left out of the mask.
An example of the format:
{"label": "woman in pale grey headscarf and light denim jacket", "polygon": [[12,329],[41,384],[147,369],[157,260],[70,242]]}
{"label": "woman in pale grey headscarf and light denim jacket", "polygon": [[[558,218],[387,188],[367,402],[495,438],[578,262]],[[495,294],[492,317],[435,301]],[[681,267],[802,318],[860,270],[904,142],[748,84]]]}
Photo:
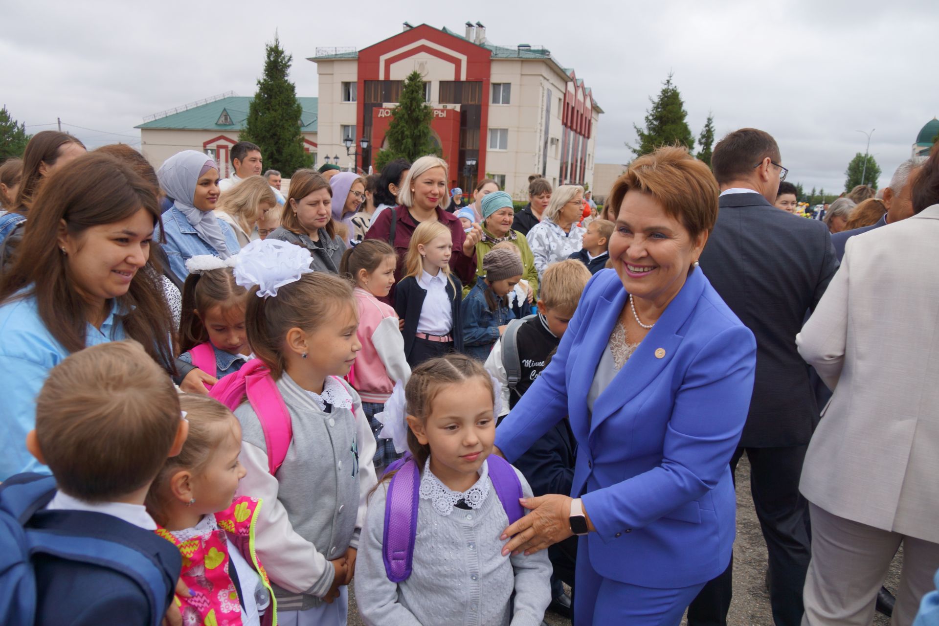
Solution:
{"label": "woman in pale grey headscarf and light denim jacket", "polygon": [[241,247],[231,226],[214,213],[219,200],[219,170],[214,160],[195,150],[177,152],[157,172],[160,187],[173,199],[162,224],[162,247],[180,281],[194,254],[227,259]]}

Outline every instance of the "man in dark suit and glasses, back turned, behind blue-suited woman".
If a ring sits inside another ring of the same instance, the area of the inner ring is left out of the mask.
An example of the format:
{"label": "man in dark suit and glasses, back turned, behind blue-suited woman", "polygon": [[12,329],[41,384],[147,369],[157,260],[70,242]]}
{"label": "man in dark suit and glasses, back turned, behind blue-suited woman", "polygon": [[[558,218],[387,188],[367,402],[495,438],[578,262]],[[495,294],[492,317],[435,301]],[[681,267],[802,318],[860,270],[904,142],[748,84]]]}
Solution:
{"label": "man in dark suit and glasses, back turned, behind blue-suited woman", "polygon": [[[762,130],[736,130],[715,146],[711,165],[721,189],[720,212],[700,267],[756,336],[753,397],[731,470],[746,452],[769,552],[773,619],[777,626],[796,626],[810,556],[799,476],[819,407],[795,335],[822,298],[838,259],[824,223],[773,206],[786,175],[781,162],[776,141]],[[689,626],[727,623],[731,567],[691,603]]]}

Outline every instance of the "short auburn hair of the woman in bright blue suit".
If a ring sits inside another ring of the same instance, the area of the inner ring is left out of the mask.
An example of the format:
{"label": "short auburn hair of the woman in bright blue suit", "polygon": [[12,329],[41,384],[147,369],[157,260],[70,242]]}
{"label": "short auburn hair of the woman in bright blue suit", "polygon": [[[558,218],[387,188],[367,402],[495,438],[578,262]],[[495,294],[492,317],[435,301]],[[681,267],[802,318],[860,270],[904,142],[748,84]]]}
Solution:
{"label": "short auburn hair of the woman in bright blue suit", "polygon": [[717,221],[717,181],[704,161],[683,147],[660,147],[630,163],[609,193],[609,205],[617,214],[627,191],[651,195],[666,215],[682,222],[692,239],[710,233]]}

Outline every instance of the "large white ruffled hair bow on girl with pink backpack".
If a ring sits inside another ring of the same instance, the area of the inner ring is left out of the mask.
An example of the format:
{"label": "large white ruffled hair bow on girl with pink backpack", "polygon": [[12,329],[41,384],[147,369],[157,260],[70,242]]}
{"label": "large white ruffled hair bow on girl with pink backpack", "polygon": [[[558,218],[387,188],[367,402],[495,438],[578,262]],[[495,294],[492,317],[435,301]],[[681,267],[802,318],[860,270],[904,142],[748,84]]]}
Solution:
{"label": "large white ruffled hair bow on girl with pink backpack", "polygon": [[313,256],[306,248],[277,239],[255,239],[238,253],[235,282],[245,289],[257,285],[257,297],[277,296],[285,284],[313,272]]}

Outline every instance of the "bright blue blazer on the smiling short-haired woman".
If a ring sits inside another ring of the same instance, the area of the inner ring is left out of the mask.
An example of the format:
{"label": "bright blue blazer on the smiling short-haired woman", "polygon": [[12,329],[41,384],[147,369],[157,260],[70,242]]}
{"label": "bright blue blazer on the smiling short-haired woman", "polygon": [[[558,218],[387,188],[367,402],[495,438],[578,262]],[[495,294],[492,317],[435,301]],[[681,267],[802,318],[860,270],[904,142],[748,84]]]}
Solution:
{"label": "bright blue blazer on the smiling short-haired woman", "polygon": [[[587,284],[545,371],[496,431],[514,462],[564,416],[577,439],[572,496],[596,532],[596,573],[683,588],[731,559],[730,460],[747,420],[756,340],[695,269],[609,387],[586,397],[627,294],[612,269]],[[657,354],[656,354],[657,353]]]}

